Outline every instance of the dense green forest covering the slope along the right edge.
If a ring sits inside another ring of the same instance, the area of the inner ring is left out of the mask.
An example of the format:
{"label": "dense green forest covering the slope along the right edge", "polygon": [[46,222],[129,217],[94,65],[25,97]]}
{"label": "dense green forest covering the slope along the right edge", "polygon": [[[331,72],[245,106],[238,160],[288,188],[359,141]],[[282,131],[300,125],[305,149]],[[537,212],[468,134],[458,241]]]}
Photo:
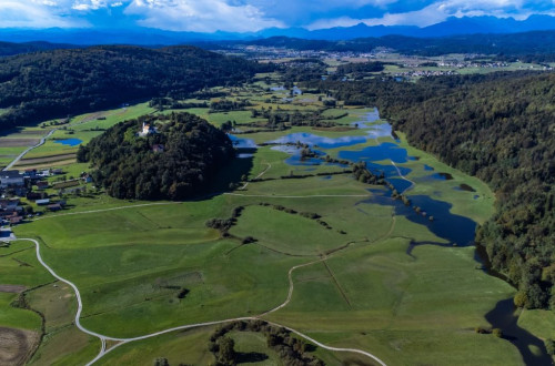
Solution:
{"label": "dense green forest covering the slope along the right edge", "polygon": [[496,213],[476,233],[515,303],[555,308],[555,73],[311,83],[377,105],[408,142],[487,182]]}

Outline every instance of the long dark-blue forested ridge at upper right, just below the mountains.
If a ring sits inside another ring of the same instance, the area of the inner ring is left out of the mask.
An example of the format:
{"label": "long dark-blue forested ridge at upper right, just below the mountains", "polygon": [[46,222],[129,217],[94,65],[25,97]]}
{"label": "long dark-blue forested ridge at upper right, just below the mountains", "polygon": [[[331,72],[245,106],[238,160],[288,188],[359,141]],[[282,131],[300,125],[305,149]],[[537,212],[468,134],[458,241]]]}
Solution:
{"label": "long dark-blue forested ridge at upper right, just below the mountains", "polygon": [[[340,52],[369,52],[375,48],[385,47],[406,54],[427,57],[448,53],[484,53],[498,55],[502,59],[511,57],[536,62],[555,61],[555,31],[534,31],[513,34],[465,34],[442,38],[384,35],[347,41],[320,41],[272,37],[254,41],[235,41],[233,43]],[[224,47],[232,45],[222,42],[218,44]]]}

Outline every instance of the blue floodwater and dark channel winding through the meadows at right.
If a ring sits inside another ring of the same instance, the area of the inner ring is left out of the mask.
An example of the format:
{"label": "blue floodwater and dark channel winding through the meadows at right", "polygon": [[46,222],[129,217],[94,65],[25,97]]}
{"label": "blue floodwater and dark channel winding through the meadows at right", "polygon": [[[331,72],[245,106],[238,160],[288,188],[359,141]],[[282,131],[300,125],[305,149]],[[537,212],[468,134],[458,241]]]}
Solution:
{"label": "blue floodwater and dark channel winding through the meadows at right", "polygon": [[[366,113],[361,118],[361,121],[354,122],[359,129],[364,129],[366,135],[361,136],[342,136],[342,138],[323,138],[312,133],[292,133],[269,143],[274,144],[272,149],[289,153],[291,156],[285,161],[290,165],[320,165],[325,164],[321,159],[301,159],[301,149],[294,146],[296,142],[307,144],[313,148],[317,155],[325,155],[326,149],[337,149],[354,146],[367,142],[370,139],[376,140],[376,145],[365,146],[360,150],[345,150],[339,152],[340,160],[349,160],[352,162],[363,161],[366,163],[367,169],[375,174],[383,174],[385,180],[393,184],[395,190],[400,193],[410,192],[413,187],[413,182],[405,179],[412,170],[405,166],[395,166],[393,163],[403,164],[408,161],[417,161],[417,157],[410,156],[407,151],[400,146],[398,140],[392,134],[392,129],[389,123],[381,123],[377,110]],[[393,142],[380,142],[379,138],[392,138]],[[243,149],[255,148],[254,142],[245,139],[238,139],[232,136],[234,143]],[[434,172],[432,166],[422,164],[423,171],[430,171],[430,175],[416,180],[415,184],[426,184],[426,181],[442,180],[446,184],[451,184],[453,179],[451,174]],[[467,185],[453,186],[455,190],[473,192],[474,189]],[[408,195],[413,206],[417,206],[418,211],[414,207],[406,206],[402,201],[393,200],[391,192],[386,189],[369,189],[372,197],[361,201],[357,205],[364,204],[380,204],[393,206],[395,214],[402,215],[411,222],[425,225],[436,236],[443,238],[445,242],[422,242],[413,241],[407,248],[407,255],[412,255],[412,251],[418,245],[440,245],[440,246],[470,246],[474,245],[474,231],[476,222],[472,218],[456,215],[451,213],[451,203],[434,200],[428,195]],[[474,195],[473,199],[477,199]],[[433,216],[433,221],[430,220]],[[476,260],[484,264],[484,258],[476,255]],[[487,263],[484,266],[487,268]],[[488,274],[490,273],[485,270]],[[512,298],[503,299],[497,303],[495,308],[490,311],[485,318],[492,327],[500,328],[503,333],[503,338],[511,342],[519,350],[525,364],[527,365],[552,365],[552,359],[547,355],[544,343],[521,328],[517,325],[518,317],[514,315],[515,308]],[[534,347],[539,350],[539,355],[531,350]]]}

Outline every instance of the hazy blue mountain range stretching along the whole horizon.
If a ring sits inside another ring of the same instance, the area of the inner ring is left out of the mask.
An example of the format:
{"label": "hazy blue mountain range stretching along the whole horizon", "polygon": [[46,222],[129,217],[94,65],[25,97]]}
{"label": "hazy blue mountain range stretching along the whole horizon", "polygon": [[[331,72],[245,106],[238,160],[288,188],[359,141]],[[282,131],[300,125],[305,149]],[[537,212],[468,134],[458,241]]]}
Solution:
{"label": "hazy blue mountain range stretching along the whole horizon", "polygon": [[495,17],[448,18],[444,22],[418,28],[414,26],[366,26],[307,30],[304,28],[270,28],[259,32],[214,33],[172,32],[150,28],[128,29],[0,29],[0,41],[33,42],[48,41],[71,44],[182,44],[201,41],[254,40],[270,37],[290,37],[309,40],[351,40],[357,38],[383,37],[390,34],[417,38],[438,38],[475,33],[518,33],[535,30],[555,30],[555,17],[531,16],[526,20]]}

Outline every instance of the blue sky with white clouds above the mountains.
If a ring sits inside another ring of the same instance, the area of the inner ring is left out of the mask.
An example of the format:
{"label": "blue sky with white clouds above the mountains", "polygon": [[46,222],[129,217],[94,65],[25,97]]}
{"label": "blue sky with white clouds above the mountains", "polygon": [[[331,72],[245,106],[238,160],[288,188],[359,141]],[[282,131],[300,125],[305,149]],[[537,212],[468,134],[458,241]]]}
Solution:
{"label": "blue sky with white clouds above the mountains", "polygon": [[426,27],[450,17],[555,16],[555,0],[0,0],[0,28],[140,27],[255,32],[300,27]]}

